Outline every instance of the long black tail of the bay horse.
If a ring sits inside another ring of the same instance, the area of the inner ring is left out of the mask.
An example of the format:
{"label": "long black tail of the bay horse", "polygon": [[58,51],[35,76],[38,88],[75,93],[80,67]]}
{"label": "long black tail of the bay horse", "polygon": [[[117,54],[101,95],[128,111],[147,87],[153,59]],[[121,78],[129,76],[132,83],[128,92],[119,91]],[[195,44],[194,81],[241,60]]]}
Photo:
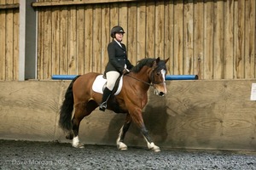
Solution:
{"label": "long black tail of the bay horse", "polygon": [[59,126],[65,131],[70,131],[73,128],[71,122],[73,112],[73,82],[75,82],[78,77],[80,76],[74,77],[73,81],[69,84],[65,99],[61,105]]}

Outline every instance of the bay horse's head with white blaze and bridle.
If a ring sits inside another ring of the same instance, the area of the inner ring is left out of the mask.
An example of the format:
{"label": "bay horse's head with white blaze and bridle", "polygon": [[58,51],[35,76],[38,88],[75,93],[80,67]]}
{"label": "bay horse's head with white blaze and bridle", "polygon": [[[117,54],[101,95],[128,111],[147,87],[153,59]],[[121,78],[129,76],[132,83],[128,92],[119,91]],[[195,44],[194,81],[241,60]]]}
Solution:
{"label": "bay horse's head with white blaze and bridle", "polygon": [[150,72],[150,80],[154,87],[154,94],[164,96],[166,90],[166,62],[169,60],[160,60],[157,58],[153,61],[152,71]]}

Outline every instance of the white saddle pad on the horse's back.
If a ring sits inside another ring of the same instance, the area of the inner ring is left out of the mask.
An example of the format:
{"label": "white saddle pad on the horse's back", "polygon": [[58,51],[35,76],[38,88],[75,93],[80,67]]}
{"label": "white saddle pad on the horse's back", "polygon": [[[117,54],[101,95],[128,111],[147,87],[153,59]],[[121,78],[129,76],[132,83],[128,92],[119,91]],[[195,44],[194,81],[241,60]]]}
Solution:
{"label": "white saddle pad on the horse's back", "polygon": [[[107,79],[103,78],[103,75],[99,75],[96,77],[95,81],[92,84],[92,90],[96,93],[103,94],[103,86],[106,84]],[[123,87],[123,77],[121,77],[119,81],[119,88],[115,92],[114,95],[118,95]]]}

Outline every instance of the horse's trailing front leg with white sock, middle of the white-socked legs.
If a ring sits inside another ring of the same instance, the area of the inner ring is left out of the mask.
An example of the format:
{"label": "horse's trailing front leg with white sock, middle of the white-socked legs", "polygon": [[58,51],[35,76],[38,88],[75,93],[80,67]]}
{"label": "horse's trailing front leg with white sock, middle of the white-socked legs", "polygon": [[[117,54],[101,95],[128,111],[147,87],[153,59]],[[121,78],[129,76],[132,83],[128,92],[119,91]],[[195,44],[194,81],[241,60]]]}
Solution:
{"label": "horse's trailing front leg with white sock, middle of the white-socked legs", "polygon": [[127,145],[124,143],[124,140],[125,140],[125,133],[128,131],[130,125],[131,125],[131,116],[127,114],[125,118],[125,123],[121,127],[119,131],[119,137],[116,140],[117,148],[119,150],[127,150]]}

